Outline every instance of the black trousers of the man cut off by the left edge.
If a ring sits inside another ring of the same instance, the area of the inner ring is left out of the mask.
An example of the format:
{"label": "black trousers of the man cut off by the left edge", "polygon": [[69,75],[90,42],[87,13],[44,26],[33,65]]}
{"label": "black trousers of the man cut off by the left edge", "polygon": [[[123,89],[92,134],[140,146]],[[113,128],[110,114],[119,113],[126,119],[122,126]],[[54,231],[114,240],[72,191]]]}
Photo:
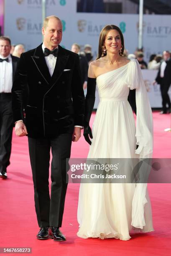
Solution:
{"label": "black trousers of the man cut off by the left edge", "polygon": [[0,93],[0,172],[7,172],[10,164],[13,133],[11,93]]}

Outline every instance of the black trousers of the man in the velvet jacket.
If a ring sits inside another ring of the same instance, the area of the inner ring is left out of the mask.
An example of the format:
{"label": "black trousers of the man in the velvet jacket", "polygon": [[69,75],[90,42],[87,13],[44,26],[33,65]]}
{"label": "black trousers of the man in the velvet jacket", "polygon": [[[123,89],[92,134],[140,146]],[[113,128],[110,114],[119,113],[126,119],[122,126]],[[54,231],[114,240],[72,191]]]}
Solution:
{"label": "black trousers of the man in the velvet jacket", "polygon": [[[67,189],[66,175],[71,154],[71,134],[54,139],[28,138],[34,184],[34,200],[39,227],[61,227]],[[49,195],[49,161],[51,162],[51,197]]]}

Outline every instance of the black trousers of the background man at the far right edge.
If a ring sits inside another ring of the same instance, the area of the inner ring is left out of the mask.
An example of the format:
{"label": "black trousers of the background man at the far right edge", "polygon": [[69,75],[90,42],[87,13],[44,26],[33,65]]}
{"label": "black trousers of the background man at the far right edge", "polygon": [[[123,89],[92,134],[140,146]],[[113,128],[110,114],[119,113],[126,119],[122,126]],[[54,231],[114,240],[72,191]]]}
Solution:
{"label": "black trousers of the background man at the far right edge", "polygon": [[168,108],[171,109],[171,101],[168,95],[168,89],[170,87],[170,84],[164,83],[162,80],[161,80],[160,90],[161,90],[161,97],[162,97],[162,108],[163,108],[163,111],[165,112],[167,110],[166,104],[168,105]]}

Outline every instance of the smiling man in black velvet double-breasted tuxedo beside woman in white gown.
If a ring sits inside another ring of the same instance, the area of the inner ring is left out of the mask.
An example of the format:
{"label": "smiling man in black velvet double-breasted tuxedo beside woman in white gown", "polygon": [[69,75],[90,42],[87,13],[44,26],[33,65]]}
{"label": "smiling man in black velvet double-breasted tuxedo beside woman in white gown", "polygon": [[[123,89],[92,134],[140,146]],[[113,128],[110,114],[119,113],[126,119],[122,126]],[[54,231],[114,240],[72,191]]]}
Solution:
{"label": "smiling man in black velvet double-breasted tuxedo beside woman in white gown", "polygon": [[[38,239],[65,241],[60,227],[67,188],[71,141],[78,141],[84,118],[79,56],[63,49],[62,23],[56,16],[45,18],[43,44],[21,54],[13,83],[15,133],[28,136],[34,183]],[[26,90],[27,87],[27,90]],[[27,103],[23,91],[28,91]],[[26,105],[26,125],[23,123]],[[50,149],[51,198],[48,177]]]}

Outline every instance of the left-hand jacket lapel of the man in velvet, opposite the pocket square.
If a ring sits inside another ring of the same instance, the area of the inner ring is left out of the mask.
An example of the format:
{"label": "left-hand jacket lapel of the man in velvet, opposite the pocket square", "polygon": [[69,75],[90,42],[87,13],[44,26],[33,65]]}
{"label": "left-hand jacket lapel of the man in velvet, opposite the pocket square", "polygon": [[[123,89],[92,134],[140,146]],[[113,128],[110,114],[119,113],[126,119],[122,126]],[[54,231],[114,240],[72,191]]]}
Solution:
{"label": "left-hand jacket lapel of the man in velvet, opposite the pocket square", "polygon": [[36,48],[31,58],[33,59],[33,62],[36,65],[36,68],[40,72],[41,76],[45,79],[46,83],[49,84],[51,81],[51,75],[48,71],[48,66],[43,55],[42,44]]}

